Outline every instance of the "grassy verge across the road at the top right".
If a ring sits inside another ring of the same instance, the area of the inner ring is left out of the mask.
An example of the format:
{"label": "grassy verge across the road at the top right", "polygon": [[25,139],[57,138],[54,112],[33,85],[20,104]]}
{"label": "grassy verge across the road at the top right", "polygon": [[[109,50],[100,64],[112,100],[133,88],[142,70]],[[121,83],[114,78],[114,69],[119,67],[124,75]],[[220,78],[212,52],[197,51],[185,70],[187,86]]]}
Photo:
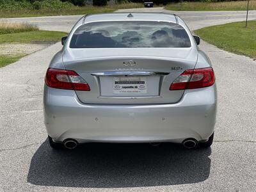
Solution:
{"label": "grassy verge across the road at the top right", "polygon": [[[247,1],[170,3],[165,8],[173,11],[239,11],[246,10]],[[255,0],[250,0],[249,8],[256,10]]]}

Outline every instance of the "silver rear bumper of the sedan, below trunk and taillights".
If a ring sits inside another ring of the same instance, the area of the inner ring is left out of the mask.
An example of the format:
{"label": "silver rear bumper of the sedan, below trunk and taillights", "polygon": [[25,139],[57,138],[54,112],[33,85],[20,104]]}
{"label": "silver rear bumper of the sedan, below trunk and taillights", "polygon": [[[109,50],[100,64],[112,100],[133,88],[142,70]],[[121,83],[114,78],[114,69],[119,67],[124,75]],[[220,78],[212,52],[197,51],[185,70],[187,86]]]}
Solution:
{"label": "silver rear bumper of the sedan, below trunk and taillights", "polygon": [[45,126],[54,141],[181,143],[207,140],[216,121],[216,86],[186,90],[175,104],[83,104],[72,90],[45,86]]}

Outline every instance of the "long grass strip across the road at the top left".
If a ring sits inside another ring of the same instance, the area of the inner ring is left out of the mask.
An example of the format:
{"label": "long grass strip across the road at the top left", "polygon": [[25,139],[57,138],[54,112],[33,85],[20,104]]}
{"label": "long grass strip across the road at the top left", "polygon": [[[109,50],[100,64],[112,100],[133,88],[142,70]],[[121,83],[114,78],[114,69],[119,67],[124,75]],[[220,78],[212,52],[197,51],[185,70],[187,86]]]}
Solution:
{"label": "long grass strip across the road at the top left", "polygon": [[86,15],[92,13],[109,13],[115,12],[119,9],[129,9],[129,8],[141,8],[142,3],[124,3],[115,4],[111,6],[65,6],[60,9],[22,9],[22,10],[0,10],[0,18],[10,18],[10,17],[40,17],[40,16],[53,16],[53,15]]}

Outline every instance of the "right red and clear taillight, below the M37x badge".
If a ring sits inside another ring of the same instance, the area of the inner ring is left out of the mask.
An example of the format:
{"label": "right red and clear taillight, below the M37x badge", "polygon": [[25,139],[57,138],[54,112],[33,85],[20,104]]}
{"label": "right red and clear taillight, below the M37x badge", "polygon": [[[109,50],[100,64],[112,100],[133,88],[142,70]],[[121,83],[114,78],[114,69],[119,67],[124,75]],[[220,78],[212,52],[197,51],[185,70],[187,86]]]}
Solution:
{"label": "right red and clear taillight, below the M37x badge", "polygon": [[170,90],[204,88],[215,82],[211,67],[185,70],[170,86]]}

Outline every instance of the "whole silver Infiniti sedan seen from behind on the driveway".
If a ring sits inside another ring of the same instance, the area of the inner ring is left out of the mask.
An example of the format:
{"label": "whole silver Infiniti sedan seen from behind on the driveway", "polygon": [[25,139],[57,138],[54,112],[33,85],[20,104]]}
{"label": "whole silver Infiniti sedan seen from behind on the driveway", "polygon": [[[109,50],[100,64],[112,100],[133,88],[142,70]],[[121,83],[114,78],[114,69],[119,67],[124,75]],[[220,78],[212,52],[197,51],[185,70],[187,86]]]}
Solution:
{"label": "whole silver Infiniti sedan seen from behind on the driveway", "polygon": [[82,17],[45,76],[53,148],[88,142],[210,147],[216,122],[211,62],[177,15]]}

